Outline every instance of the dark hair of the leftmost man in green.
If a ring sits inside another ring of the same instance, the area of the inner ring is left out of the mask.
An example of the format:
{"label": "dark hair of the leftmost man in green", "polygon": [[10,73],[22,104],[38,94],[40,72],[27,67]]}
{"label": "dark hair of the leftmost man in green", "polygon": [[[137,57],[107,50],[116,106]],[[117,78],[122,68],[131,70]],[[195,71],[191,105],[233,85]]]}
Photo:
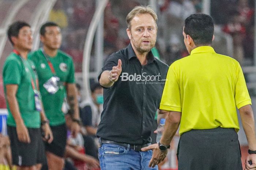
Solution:
{"label": "dark hair of the leftmost man in green", "polygon": [[19,30],[22,29],[22,27],[30,27],[30,25],[24,21],[16,21],[12,23],[7,31],[8,39],[10,40],[11,44],[13,44],[11,37],[18,37],[19,35]]}

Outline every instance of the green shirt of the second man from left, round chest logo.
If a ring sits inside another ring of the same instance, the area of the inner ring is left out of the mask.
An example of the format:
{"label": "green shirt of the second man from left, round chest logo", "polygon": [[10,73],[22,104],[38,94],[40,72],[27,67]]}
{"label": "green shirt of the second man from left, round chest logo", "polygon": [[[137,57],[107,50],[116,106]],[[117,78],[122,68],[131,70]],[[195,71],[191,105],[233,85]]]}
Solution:
{"label": "green shirt of the second man from left, round chest logo", "polygon": [[[48,56],[47,56],[48,57]],[[39,89],[42,95],[42,102],[46,117],[51,126],[57,126],[65,123],[63,112],[63,102],[66,96],[65,83],[75,83],[75,69],[70,56],[58,50],[55,57],[48,57],[52,63],[55,76],[60,78],[63,85],[55,94],[50,94],[44,87],[44,84],[54,76],[41,49],[29,54],[29,58],[34,62],[39,79]]]}

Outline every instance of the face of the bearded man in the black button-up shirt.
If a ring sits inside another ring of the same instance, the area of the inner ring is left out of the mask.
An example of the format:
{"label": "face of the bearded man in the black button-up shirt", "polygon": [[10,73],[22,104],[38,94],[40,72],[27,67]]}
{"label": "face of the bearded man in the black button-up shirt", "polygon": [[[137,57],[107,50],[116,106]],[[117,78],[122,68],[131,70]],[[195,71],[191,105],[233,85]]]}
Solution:
{"label": "face of the bearded man in the black button-up shirt", "polygon": [[127,34],[139,53],[149,52],[157,40],[157,24],[150,14],[135,15],[131,20],[131,30]]}

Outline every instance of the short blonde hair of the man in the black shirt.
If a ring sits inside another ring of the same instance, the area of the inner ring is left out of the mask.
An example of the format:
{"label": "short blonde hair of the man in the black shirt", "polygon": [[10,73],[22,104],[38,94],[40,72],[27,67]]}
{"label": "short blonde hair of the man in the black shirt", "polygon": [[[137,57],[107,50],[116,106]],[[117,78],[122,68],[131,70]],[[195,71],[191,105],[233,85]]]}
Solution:
{"label": "short blonde hair of the man in the black shirt", "polygon": [[150,6],[136,6],[132,9],[131,12],[126,16],[126,24],[129,30],[131,30],[131,20],[134,18],[135,15],[139,14],[150,14],[154,20],[155,20],[155,25],[157,26],[157,14],[155,11],[150,7]]}

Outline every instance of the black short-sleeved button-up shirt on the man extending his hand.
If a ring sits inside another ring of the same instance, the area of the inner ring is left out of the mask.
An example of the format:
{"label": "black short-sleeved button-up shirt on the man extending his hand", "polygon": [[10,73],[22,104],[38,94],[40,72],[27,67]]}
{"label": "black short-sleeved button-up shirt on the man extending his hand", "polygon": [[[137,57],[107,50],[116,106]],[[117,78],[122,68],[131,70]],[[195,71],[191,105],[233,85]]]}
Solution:
{"label": "black short-sleeved button-up shirt on the man extending his hand", "polygon": [[147,57],[147,64],[141,65],[131,44],[109,56],[102,72],[117,66],[118,59],[122,61],[122,72],[112,87],[104,88],[98,137],[128,144],[151,142],[168,66],[151,51]]}

